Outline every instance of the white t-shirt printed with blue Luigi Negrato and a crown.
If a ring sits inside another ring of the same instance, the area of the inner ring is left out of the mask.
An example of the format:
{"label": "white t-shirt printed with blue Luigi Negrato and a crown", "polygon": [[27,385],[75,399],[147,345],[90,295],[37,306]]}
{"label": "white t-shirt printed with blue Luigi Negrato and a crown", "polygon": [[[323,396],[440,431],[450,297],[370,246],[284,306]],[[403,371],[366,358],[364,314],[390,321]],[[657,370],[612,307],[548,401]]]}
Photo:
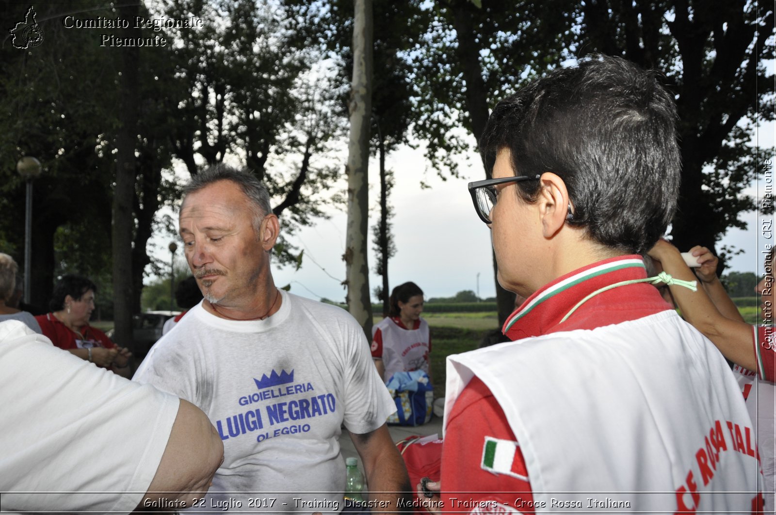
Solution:
{"label": "white t-shirt printed with blue Luigi Negrato and a crown", "polygon": [[[199,406],[219,431],[224,461],[203,508],[341,510],[341,424],[369,433],[396,410],[352,316],[281,295],[267,320],[225,320],[200,303],[135,374]],[[251,499],[276,500],[259,506]]]}

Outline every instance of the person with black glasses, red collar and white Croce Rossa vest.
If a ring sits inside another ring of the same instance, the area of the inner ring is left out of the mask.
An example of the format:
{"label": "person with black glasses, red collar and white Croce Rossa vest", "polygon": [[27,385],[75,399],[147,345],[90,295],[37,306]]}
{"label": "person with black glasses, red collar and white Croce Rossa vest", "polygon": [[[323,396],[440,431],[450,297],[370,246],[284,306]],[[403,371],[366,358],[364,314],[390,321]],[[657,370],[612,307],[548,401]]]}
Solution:
{"label": "person with black glasses, red collar and white Croce Rossa vest", "polygon": [[656,76],[615,57],[553,71],[491,113],[480,152],[492,178],[469,191],[499,282],[526,301],[504,323],[514,341],[448,358],[432,511],[761,502],[736,381],[639,255],[676,209],[676,118]]}

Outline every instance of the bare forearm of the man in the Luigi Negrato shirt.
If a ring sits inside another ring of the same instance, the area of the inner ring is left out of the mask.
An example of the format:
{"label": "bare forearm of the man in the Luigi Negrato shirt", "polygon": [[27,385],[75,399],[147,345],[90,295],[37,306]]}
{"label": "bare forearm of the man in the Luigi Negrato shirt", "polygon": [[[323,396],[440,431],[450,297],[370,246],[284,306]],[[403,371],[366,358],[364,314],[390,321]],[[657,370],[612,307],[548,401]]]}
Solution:
{"label": "bare forearm of the man in the Luigi Negrato shirt", "polygon": [[[410,478],[404,459],[391,440],[388,426],[383,424],[371,433],[351,433],[350,437],[364,464],[369,499],[378,501],[376,506],[372,506],[372,513],[404,511],[397,507],[398,499],[404,499],[404,506],[411,506]],[[387,506],[379,501],[385,501]],[[411,510],[411,507],[406,510]]]}

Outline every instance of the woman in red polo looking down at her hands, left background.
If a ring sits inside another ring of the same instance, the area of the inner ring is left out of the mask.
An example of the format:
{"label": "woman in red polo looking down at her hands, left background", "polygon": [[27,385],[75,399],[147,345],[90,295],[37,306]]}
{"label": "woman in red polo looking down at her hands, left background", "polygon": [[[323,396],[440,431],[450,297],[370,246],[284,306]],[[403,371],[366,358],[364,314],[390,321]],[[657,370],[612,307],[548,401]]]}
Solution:
{"label": "woman in red polo looking down at her hands, left background", "polygon": [[43,335],[57,347],[129,378],[132,353],[89,325],[96,291],[97,286],[88,278],[64,275],[51,294],[51,313],[35,318]]}

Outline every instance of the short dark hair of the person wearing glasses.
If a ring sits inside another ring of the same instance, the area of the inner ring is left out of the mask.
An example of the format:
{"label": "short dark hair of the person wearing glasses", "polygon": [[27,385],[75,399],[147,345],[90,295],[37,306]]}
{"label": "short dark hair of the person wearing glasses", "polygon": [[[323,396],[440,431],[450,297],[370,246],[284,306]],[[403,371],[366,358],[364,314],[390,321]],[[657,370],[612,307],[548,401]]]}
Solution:
{"label": "short dark hair of the person wearing glasses", "polygon": [[[646,254],[674,216],[680,181],[674,99],[619,57],[596,56],[496,105],[480,138],[488,169],[511,152],[515,175],[551,171],[566,183],[572,226],[607,247]],[[518,183],[535,202],[539,181]]]}

